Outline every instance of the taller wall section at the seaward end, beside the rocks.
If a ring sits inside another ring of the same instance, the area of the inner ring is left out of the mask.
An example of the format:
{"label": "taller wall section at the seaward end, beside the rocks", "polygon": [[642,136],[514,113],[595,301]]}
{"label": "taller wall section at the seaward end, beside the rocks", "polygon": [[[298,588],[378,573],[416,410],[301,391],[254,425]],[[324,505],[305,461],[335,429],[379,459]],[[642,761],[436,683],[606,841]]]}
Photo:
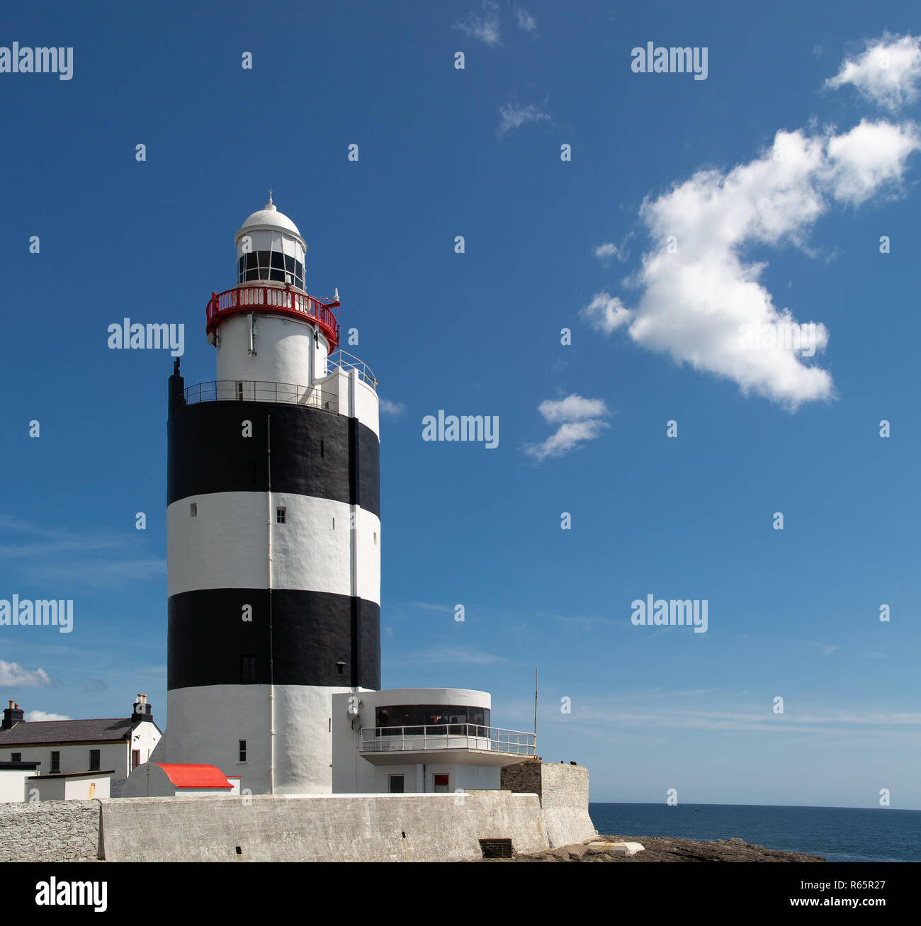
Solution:
{"label": "taller wall section at the seaward end, beside the rocks", "polygon": [[581,843],[597,834],[589,816],[589,770],[583,766],[520,762],[502,770],[502,787],[539,795],[551,848]]}

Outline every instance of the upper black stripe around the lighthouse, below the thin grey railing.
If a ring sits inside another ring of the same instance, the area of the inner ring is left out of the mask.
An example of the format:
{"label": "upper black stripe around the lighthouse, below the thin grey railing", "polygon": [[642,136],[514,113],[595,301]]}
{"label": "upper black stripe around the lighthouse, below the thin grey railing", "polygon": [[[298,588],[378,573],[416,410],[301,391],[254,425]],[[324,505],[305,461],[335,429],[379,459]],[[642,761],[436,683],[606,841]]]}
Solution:
{"label": "upper black stripe around the lighthouse, below the thin grey railing", "polygon": [[[358,505],[360,497],[361,507],[380,518],[380,441],[357,419],[319,408],[266,402],[171,405],[168,505],[189,495],[265,492],[270,412],[273,492],[330,498],[349,505]],[[251,437],[243,437],[244,420],[252,422]]]}

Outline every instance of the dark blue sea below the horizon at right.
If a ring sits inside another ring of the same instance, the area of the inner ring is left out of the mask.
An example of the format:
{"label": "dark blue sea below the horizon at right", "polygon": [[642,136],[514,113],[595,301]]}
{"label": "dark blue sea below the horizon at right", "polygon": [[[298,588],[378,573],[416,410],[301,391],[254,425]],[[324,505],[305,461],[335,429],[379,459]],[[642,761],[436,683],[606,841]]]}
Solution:
{"label": "dark blue sea below the horizon at right", "polygon": [[[697,809],[695,809],[695,807]],[[921,861],[921,810],[747,804],[589,804],[604,835],[731,839],[829,862]]]}

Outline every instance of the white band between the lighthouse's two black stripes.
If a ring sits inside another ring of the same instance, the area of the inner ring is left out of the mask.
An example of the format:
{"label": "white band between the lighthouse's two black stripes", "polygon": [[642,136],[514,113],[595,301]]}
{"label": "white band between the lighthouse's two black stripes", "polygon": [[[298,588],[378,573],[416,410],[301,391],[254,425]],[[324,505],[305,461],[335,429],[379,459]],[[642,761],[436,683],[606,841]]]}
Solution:
{"label": "white band between the lighthouse's two black stripes", "polygon": [[[277,507],[287,509],[284,524],[274,523]],[[349,533],[353,510],[357,594],[380,604],[380,519],[363,508],[312,495],[272,493],[272,587],[355,594]],[[266,588],[267,518],[264,492],[189,495],[173,502],[167,508],[168,594]]]}

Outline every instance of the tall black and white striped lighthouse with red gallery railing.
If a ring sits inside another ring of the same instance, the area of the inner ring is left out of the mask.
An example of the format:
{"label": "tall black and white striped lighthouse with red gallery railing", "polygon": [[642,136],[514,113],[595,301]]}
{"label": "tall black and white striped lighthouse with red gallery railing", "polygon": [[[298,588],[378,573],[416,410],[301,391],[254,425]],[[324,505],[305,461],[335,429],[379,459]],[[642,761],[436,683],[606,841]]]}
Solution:
{"label": "tall black and white striped lighthouse with red gallery railing", "polygon": [[169,378],[168,727],[156,761],[331,791],[330,697],[380,688],[376,381],[271,202],[212,294],[216,382]]}

